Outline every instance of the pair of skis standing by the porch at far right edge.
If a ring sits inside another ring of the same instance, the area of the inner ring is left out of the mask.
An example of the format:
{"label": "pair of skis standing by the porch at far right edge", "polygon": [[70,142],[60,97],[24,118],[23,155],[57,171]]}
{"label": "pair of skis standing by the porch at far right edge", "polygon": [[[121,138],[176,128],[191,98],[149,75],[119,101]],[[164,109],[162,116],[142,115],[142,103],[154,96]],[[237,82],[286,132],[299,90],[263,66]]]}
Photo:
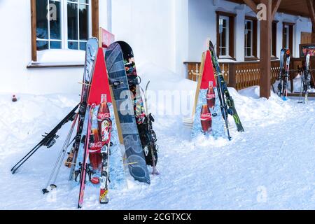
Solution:
{"label": "pair of skis standing by the porch at far right edge", "polygon": [[309,90],[311,89],[311,72],[310,72],[310,66],[309,66],[309,59],[311,55],[309,52],[307,52],[306,58],[305,58],[305,64],[300,69],[301,73],[301,87],[300,87],[300,97],[299,97],[299,103],[302,103],[302,92],[304,92],[304,104],[308,102],[308,94]]}

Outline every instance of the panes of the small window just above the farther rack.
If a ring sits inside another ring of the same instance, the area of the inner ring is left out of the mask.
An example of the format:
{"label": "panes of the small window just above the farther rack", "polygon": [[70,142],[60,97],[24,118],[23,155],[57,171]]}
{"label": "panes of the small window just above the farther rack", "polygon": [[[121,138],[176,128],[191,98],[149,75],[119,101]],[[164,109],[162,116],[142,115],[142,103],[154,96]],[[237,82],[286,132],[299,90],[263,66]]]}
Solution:
{"label": "panes of the small window just above the farther rack", "polygon": [[229,18],[220,16],[219,18],[219,55],[229,55]]}

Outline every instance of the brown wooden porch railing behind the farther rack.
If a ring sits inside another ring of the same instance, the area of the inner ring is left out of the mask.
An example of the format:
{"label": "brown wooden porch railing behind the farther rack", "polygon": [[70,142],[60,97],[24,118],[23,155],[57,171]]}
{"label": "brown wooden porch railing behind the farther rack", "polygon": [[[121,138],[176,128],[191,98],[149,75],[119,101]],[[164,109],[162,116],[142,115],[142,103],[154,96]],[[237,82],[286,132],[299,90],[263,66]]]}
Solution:
{"label": "brown wooden porch railing behind the farther rack", "polygon": [[[190,80],[197,80],[200,73],[200,62],[184,62],[187,69],[187,78]],[[271,62],[271,83],[276,81],[279,76],[279,60],[272,60]],[[293,78],[297,76],[297,65],[302,65],[302,60],[293,58],[290,60],[290,83],[293,87]],[[235,87],[237,90],[259,85],[260,83],[260,63],[255,62],[222,62],[220,67],[227,81],[228,86]],[[293,88],[292,88],[293,91]]]}

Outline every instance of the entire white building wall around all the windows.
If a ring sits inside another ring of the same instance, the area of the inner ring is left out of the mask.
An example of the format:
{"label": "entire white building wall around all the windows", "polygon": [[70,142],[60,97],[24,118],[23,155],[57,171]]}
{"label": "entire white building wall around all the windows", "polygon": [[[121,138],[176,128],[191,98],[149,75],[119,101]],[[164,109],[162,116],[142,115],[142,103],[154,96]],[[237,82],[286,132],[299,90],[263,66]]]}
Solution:
{"label": "entire white building wall around all the windows", "polygon": [[[244,16],[250,8],[223,0],[100,0],[99,25],[134,48],[137,64],[153,63],[185,76],[184,61],[200,61],[207,38],[216,43],[216,10],[237,13],[236,58],[244,60]],[[295,22],[294,56],[301,31],[310,32],[307,18],[277,14],[277,54],[282,46],[282,22]],[[30,1],[0,1],[0,92],[79,93],[83,68],[27,69],[31,61]],[[258,23],[259,30],[259,23]],[[258,46],[260,38],[258,34]],[[260,48],[258,47],[258,55]]]}

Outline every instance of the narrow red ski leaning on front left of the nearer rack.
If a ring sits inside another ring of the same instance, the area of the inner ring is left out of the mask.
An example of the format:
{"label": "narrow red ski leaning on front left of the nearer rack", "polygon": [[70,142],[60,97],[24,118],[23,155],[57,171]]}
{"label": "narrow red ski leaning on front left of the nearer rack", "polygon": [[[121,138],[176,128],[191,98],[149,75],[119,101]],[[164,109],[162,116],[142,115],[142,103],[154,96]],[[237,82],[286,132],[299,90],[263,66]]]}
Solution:
{"label": "narrow red ski leaning on front left of the nearer rack", "polygon": [[87,113],[89,114],[87,119],[87,133],[85,137],[85,144],[84,144],[84,155],[83,155],[83,162],[80,162],[80,193],[78,199],[78,209],[82,208],[83,206],[83,197],[85,191],[85,183],[86,183],[86,174],[89,169],[89,165],[87,164],[87,160],[89,158],[90,153],[90,135],[91,135],[91,127],[92,127],[92,115],[94,113],[95,104],[92,106],[88,106]]}

